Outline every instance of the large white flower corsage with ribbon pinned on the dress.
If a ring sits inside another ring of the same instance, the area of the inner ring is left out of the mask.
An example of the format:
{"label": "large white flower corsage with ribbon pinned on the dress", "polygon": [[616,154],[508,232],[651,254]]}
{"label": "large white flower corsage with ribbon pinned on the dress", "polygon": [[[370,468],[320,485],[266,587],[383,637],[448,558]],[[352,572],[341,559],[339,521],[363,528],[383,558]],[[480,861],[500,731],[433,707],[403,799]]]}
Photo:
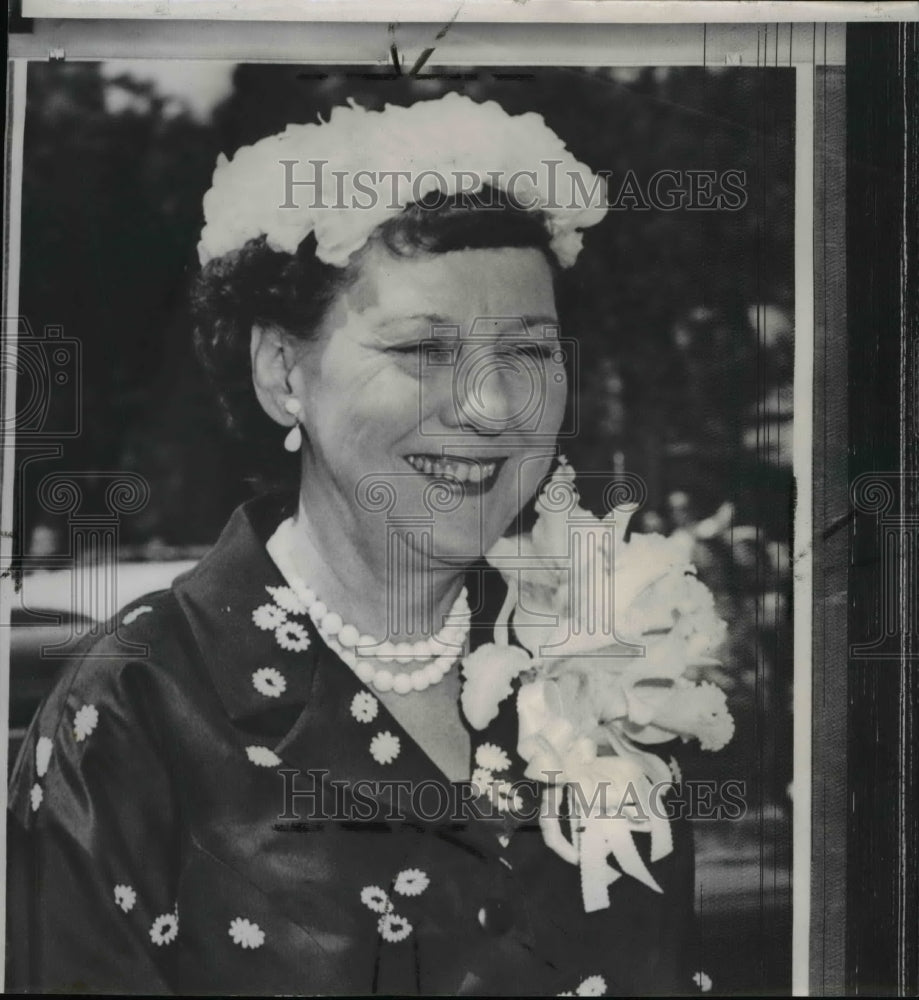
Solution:
{"label": "large white flower corsage with ribbon pinned on the dress", "polygon": [[[630,511],[598,518],[577,500],[562,459],[532,532],[488,553],[508,593],[495,641],[463,661],[462,705],[484,729],[520,676],[517,751],[526,776],[547,786],[543,838],[580,865],[590,912],[609,906],[608,887],[623,874],[661,891],[633,834],[650,834],[652,862],[672,851],[660,793],[673,776],[641,745],[680,736],[720,750],[734,721],[724,692],[693,679],[716,663],[725,624],[685,546],[655,534],[626,542]],[[523,648],[510,645],[512,617]],[[552,787],[567,798],[570,837]]]}

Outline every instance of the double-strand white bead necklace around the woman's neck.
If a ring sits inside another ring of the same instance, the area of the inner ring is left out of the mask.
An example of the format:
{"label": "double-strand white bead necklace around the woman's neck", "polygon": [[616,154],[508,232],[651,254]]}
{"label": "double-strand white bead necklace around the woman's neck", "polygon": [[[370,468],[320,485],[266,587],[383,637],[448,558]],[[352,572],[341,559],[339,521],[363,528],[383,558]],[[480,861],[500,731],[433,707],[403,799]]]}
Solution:
{"label": "double-strand white bead necklace around the woman's neck", "polygon": [[[462,655],[462,648],[469,634],[472,613],[466,588],[463,587],[453,602],[447,614],[448,624],[436,635],[414,643],[394,643],[389,640],[380,642],[343,621],[341,615],[330,610],[297,573],[288,554],[290,546],[285,539],[292,528],[293,521],[290,518],[282,522],[268,541],[268,551],[326,645],[364,684],[373,686],[381,693],[394,691],[396,694],[409,694],[411,691],[424,691],[433,684],[439,684]],[[397,663],[410,663],[412,660],[427,662],[417,670],[394,674],[385,667],[375,667],[369,662],[370,658],[395,660]]]}

